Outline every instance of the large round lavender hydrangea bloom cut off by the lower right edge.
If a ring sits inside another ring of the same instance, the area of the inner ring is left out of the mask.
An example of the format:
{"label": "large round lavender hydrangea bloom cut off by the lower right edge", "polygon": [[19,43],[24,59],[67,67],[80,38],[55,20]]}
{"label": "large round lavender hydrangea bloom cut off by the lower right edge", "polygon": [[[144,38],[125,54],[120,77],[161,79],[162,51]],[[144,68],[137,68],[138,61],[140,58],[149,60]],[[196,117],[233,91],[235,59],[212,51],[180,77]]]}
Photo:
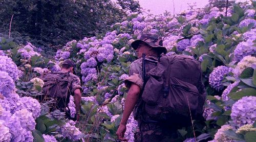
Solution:
{"label": "large round lavender hydrangea bloom cut off by the lower right edge", "polygon": [[233,104],[231,119],[238,126],[253,124],[256,120],[256,97],[243,97]]}

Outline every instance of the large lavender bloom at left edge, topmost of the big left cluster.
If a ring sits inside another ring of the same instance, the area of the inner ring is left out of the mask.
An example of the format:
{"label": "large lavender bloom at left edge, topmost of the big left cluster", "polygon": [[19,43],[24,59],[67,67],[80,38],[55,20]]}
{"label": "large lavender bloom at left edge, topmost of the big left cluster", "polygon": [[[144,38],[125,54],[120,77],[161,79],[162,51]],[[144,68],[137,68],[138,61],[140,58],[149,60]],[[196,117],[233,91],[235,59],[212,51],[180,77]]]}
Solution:
{"label": "large lavender bloom at left edge, topmost of the big left cluster", "polygon": [[7,56],[0,56],[0,71],[8,73],[14,81],[18,77],[17,65]]}

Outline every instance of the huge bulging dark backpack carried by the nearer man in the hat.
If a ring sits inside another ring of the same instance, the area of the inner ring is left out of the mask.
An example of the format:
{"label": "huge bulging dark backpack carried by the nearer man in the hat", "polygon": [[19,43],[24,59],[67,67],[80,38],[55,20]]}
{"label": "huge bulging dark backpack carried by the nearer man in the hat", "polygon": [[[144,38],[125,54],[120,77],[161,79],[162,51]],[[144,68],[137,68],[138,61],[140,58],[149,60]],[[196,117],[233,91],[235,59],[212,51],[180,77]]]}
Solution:
{"label": "huge bulging dark backpack carried by the nearer man in the hat", "polygon": [[201,65],[193,57],[162,55],[146,76],[142,100],[148,115],[183,124],[202,116],[206,92]]}

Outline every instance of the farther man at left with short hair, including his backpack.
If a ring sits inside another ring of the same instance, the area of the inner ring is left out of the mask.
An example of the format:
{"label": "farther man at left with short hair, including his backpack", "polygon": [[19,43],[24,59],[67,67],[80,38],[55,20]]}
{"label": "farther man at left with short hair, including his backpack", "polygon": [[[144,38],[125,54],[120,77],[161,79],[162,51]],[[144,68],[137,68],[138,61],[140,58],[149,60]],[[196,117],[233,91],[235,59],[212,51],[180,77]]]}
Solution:
{"label": "farther man at left with short hair, including his backpack", "polygon": [[[44,81],[42,92],[44,93],[43,98],[54,99],[50,111],[58,109],[61,112],[66,112],[68,119],[79,121],[82,87],[79,77],[75,75],[74,68],[75,63],[72,60],[63,61],[60,72],[49,73],[42,78]],[[71,117],[71,112],[68,107],[70,96],[74,96],[76,109],[74,118]]]}

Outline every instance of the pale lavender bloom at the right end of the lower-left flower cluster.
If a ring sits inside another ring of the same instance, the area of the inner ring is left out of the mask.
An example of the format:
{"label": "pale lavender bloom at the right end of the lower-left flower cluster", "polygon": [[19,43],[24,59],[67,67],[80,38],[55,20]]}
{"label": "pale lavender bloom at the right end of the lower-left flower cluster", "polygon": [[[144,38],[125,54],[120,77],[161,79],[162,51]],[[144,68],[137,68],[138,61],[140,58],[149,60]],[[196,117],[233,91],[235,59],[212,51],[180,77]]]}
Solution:
{"label": "pale lavender bloom at the right end of the lower-left flower cluster", "polygon": [[22,97],[20,100],[23,102],[24,107],[32,112],[34,119],[36,119],[41,112],[40,103],[31,97]]}

